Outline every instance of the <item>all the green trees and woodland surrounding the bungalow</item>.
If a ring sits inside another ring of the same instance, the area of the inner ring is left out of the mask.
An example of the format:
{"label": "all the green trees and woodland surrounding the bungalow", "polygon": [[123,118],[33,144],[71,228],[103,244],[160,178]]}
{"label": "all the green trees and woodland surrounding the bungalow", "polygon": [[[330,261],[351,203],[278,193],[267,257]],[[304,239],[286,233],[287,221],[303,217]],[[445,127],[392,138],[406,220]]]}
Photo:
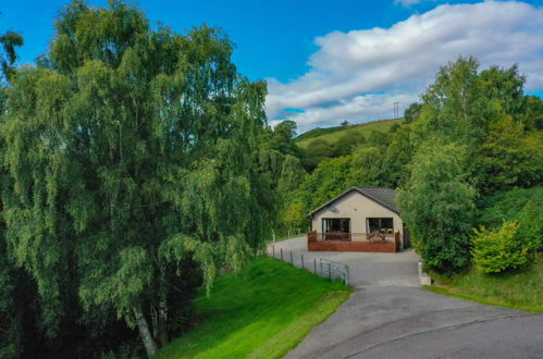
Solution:
{"label": "all the green trees and woodland surrounding the bungalow", "polygon": [[0,357],[152,356],[190,300],[350,186],[397,188],[429,269],[527,268],[543,101],[517,66],[444,64],[387,133],[296,145],[221,29],[67,5],[33,65],[0,37]]}

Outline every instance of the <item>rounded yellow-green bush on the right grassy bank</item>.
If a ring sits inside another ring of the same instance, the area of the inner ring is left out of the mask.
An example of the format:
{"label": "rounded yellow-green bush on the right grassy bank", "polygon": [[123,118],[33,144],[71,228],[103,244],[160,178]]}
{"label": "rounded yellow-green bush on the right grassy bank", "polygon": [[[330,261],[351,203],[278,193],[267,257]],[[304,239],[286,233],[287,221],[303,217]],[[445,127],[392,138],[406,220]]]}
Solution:
{"label": "rounded yellow-green bush on the right grassy bank", "polygon": [[518,235],[516,221],[504,221],[497,230],[474,230],[473,262],[484,273],[499,273],[528,263],[527,246]]}

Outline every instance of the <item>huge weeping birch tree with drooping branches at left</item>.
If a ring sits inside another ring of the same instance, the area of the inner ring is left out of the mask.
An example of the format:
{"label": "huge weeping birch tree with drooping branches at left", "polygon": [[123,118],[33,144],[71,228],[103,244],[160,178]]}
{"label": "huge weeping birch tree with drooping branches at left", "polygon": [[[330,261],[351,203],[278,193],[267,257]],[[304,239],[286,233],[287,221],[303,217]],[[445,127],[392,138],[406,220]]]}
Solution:
{"label": "huge weeping birch tree with drooping branches at left", "polygon": [[220,30],[153,30],[124,2],[75,1],[55,22],[51,69],[14,76],[7,238],[50,335],[75,284],[87,319],[115,312],[152,356],[183,277],[209,290],[219,267],[262,246],[273,207],[257,156],[266,85],[231,54]]}

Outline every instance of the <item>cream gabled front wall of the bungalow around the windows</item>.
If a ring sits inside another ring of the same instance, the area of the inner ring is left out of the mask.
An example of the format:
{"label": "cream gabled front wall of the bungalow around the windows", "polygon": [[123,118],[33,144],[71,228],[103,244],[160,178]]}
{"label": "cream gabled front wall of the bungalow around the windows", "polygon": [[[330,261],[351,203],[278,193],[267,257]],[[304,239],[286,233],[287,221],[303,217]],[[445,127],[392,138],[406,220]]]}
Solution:
{"label": "cream gabled front wall of the bungalow around the windows", "polygon": [[[314,213],[312,230],[322,232],[322,219],[350,219],[351,233],[366,233],[367,218],[392,218],[394,233],[399,232],[403,237],[403,222],[399,215],[356,190]],[[356,240],[355,237],[353,240]]]}

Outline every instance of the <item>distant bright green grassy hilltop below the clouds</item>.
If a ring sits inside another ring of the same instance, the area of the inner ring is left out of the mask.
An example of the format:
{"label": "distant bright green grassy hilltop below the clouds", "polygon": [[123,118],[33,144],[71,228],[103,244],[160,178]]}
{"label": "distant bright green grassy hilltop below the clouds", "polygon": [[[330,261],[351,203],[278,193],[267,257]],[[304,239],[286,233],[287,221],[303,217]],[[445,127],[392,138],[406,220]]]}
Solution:
{"label": "distant bright green grassy hilltop below the clouds", "polygon": [[301,147],[306,148],[307,145],[312,141],[313,139],[317,138],[322,138],[325,139],[330,143],[336,141],[341,136],[343,136],[347,132],[356,131],[362,134],[363,136],[368,137],[368,135],[372,131],[379,131],[379,132],[387,132],[391,126],[395,123],[400,123],[402,119],[399,120],[379,120],[379,121],[372,121],[368,123],[361,123],[358,125],[347,125],[347,126],[335,126],[335,127],[328,127],[328,128],[313,128],[311,131],[308,131],[298,137],[296,137],[295,141],[296,144]]}

